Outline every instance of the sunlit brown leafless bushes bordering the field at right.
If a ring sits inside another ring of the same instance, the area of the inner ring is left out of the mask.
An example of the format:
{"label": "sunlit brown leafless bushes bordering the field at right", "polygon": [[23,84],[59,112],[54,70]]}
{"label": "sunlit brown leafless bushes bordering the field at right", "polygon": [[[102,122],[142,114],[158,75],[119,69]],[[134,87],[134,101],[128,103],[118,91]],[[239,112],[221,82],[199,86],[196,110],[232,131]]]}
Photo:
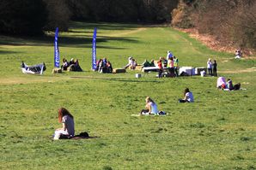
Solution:
{"label": "sunlit brown leafless bushes bordering the field at right", "polygon": [[256,50],[255,0],[186,0],[172,12],[172,25],[195,28],[223,45]]}

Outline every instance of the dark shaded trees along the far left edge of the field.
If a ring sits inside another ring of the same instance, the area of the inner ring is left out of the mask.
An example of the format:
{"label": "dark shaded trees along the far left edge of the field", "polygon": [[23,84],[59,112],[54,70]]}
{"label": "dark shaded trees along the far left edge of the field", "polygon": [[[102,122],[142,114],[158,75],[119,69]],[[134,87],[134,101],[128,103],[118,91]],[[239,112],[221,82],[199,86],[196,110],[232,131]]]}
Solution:
{"label": "dark shaded trees along the far left edge of the field", "polygon": [[70,21],[163,23],[178,0],[0,0],[0,33],[68,30]]}

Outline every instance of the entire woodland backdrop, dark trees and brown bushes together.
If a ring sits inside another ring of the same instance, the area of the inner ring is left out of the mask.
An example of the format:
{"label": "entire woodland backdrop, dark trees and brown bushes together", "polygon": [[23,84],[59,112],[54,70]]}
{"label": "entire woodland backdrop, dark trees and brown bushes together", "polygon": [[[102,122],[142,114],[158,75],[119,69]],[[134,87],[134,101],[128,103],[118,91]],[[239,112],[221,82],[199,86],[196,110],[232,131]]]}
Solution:
{"label": "entire woodland backdrop, dark trees and brown bushes together", "polygon": [[0,33],[40,35],[69,21],[172,23],[256,49],[254,0],[0,0]]}

